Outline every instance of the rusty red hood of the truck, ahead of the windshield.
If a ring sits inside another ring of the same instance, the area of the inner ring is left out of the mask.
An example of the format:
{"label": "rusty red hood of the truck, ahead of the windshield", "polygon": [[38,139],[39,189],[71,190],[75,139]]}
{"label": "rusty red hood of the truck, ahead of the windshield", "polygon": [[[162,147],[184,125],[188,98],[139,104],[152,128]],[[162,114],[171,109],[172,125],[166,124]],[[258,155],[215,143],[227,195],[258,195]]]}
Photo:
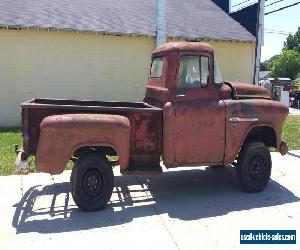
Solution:
{"label": "rusty red hood of the truck, ahead of the windshield", "polygon": [[251,99],[251,98],[262,98],[271,99],[267,89],[252,85],[249,83],[233,83],[228,82],[229,85],[235,90],[234,95],[238,99]]}

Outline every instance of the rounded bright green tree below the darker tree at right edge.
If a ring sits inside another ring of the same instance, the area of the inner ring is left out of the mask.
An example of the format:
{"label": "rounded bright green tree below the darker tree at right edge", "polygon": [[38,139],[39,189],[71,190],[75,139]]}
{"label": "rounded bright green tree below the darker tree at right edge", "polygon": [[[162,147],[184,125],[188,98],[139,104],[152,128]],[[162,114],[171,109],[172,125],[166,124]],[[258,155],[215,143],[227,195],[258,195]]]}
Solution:
{"label": "rounded bright green tree below the darker tree at right edge", "polygon": [[300,72],[300,53],[295,50],[283,50],[272,63],[273,77],[288,77],[294,80]]}

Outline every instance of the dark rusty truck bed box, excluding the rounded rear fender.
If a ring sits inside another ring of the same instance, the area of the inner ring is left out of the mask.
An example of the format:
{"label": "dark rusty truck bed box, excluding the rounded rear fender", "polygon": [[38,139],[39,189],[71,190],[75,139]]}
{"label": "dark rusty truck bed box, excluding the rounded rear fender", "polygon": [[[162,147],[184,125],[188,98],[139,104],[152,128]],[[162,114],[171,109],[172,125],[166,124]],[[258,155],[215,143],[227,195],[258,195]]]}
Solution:
{"label": "dark rusty truck bed box, excluding the rounded rear fender", "polygon": [[126,116],[131,124],[130,155],[134,158],[161,154],[162,109],[144,102],[108,102],[90,100],[32,99],[22,104],[23,148],[35,155],[40,123],[59,114],[117,114]]}

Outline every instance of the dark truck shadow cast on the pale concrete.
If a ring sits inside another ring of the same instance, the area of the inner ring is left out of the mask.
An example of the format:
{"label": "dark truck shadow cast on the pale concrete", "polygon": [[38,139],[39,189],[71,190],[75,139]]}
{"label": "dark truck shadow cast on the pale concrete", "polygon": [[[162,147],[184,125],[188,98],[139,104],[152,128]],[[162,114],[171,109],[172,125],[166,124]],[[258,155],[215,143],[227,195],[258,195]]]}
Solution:
{"label": "dark truck shadow cast on the pale concrete", "polygon": [[[70,232],[121,225],[157,214],[188,221],[300,200],[274,180],[261,193],[245,193],[231,167],[168,171],[156,177],[116,176],[115,187],[113,202],[105,210],[84,213],[69,204],[68,182],[33,186],[15,204],[12,225],[17,233]],[[50,207],[35,206],[49,196]]]}

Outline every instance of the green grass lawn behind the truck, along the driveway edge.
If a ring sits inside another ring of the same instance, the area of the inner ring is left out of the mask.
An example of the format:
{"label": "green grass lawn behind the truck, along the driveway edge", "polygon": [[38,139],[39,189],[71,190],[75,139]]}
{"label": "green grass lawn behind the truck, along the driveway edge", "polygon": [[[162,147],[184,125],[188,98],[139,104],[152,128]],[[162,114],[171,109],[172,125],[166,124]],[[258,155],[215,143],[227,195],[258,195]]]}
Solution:
{"label": "green grass lawn behind the truck, along the driveway edge", "polygon": [[[300,116],[288,116],[283,127],[283,140],[287,142],[289,150],[300,150]],[[0,175],[15,173],[14,162],[16,155],[14,145],[22,145],[22,136],[17,128],[0,129]],[[30,170],[35,172],[34,157],[30,158]],[[71,167],[68,164],[68,168]]]}

